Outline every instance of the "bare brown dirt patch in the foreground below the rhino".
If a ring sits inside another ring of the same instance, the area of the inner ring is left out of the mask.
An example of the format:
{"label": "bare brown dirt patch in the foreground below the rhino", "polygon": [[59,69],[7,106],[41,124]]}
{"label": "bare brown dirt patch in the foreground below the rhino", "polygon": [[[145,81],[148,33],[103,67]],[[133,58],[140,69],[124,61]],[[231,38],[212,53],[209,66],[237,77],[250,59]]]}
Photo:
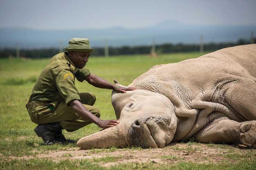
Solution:
{"label": "bare brown dirt patch in the foreground below the rhino", "polygon": [[[254,151],[254,149],[253,149]],[[244,146],[222,146],[202,143],[172,143],[165,148],[124,148],[124,149],[93,149],[80,150],[70,148],[65,151],[46,151],[36,156],[12,157],[11,159],[50,158],[54,161],[63,159],[88,159],[97,161],[104,167],[126,163],[177,163],[179,161],[194,163],[218,163],[222,161],[235,161],[225,157],[227,154],[240,154],[252,152]],[[256,151],[255,151],[256,152]],[[255,154],[256,155],[256,154]],[[254,157],[256,158],[256,156]],[[110,160],[104,158],[111,157]]]}

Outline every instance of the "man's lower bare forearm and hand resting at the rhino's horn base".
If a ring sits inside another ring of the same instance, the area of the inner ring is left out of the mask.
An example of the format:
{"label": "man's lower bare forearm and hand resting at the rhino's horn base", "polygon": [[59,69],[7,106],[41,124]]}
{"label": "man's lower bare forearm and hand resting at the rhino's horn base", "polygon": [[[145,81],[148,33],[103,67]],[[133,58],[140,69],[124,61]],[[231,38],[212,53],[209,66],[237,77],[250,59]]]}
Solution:
{"label": "man's lower bare forearm and hand resting at the rhino's horn base", "polygon": [[[118,120],[101,120],[97,116],[94,116],[89,110],[87,110],[83,104],[79,100],[72,100],[69,105],[78,113],[82,118],[89,120],[95,124],[97,124],[100,128],[109,128],[112,126],[116,126],[119,121]],[[100,123],[100,124],[99,124]]]}

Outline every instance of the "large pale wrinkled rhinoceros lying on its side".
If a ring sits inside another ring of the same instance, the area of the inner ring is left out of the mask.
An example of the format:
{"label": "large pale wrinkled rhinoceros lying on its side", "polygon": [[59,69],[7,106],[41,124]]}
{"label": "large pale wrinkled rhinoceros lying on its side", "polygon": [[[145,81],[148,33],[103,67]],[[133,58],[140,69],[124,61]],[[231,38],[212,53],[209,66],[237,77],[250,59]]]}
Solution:
{"label": "large pale wrinkled rhinoceros lying on its side", "polygon": [[157,65],[129,86],[138,90],[112,92],[120,123],[77,146],[162,148],[193,137],[256,148],[256,44]]}

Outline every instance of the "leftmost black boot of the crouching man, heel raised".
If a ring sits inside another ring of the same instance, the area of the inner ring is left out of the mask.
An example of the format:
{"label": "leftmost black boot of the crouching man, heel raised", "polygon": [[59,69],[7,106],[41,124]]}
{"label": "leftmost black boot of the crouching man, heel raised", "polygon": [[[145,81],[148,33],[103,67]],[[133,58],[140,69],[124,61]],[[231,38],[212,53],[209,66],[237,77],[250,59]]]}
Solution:
{"label": "leftmost black boot of the crouching man, heel raised", "polygon": [[45,144],[55,143],[55,134],[46,127],[46,124],[39,124],[34,131],[38,137],[43,139]]}

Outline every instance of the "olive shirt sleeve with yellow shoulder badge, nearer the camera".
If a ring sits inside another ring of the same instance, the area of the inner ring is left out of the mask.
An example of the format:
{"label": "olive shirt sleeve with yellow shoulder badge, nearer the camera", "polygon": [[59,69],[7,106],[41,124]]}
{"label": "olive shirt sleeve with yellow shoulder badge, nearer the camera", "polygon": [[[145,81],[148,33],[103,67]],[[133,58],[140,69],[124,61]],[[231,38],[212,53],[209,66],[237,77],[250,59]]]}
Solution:
{"label": "olive shirt sleeve with yellow shoulder badge, nearer the camera", "polygon": [[62,70],[56,77],[56,86],[65,103],[72,100],[80,100],[78,90],[75,87],[74,74],[70,70]]}

